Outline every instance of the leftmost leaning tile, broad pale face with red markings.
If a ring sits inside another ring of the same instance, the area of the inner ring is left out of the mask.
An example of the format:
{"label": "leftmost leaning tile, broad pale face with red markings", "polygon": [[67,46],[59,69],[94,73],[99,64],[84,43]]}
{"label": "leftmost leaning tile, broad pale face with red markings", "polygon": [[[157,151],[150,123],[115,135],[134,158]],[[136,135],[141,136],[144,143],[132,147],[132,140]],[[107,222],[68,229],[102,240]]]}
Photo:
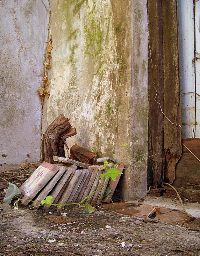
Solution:
{"label": "leftmost leaning tile, broad pale face with red markings", "polygon": [[38,192],[46,185],[46,183],[59,171],[59,167],[54,164],[43,162],[31,174],[31,176],[19,188],[20,192],[24,194],[21,203],[27,205]]}

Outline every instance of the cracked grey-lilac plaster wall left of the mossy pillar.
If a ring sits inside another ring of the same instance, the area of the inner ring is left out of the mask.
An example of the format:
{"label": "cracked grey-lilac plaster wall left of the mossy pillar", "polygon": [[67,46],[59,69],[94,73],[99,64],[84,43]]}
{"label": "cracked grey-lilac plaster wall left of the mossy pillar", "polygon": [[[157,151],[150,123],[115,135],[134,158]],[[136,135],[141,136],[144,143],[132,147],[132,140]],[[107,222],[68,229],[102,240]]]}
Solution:
{"label": "cracked grey-lilac plaster wall left of the mossy pillar", "polygon": [[40,160],[48,9],[47,0],[0,1],[0,164]]}

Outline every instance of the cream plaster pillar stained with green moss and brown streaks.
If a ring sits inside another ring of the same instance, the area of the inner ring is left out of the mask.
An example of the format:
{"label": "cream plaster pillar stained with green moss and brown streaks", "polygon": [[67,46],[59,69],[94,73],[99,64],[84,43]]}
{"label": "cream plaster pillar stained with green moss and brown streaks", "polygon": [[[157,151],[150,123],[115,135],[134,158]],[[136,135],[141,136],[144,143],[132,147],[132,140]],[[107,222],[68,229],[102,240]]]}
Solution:
{"label": "cream plaster pillar stained with green moss and brown streaks", "polygon": [[140,0],[51,0],[53,50],[43,132],[61,113],[77,135],[68,139],[120,161],[122,194],[146,194],[148,92],[147,10]]}

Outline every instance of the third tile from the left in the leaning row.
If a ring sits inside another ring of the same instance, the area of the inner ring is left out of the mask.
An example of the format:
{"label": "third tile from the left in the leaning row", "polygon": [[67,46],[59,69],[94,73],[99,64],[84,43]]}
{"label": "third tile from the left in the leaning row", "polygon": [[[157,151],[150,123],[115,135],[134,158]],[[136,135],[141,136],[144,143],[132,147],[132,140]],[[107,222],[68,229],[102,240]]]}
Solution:
{"label": "third tile from the left in the leaning row", "polygon": [[[76,167],[77,168],[77,167]],[[58,199],[61,197],[61,194],[63,193],[64,189],[66,188],[68,184],[68,180],[70,180],[70,176],[73,172],[75,172],[75,168],[66,167],[65,173],[62,175],[61,179],[58,181],[57,185],[54,187],[54,189],[51,191],[50,195],[52,198],[52,204],[56,204],[58,202]],[[72,177],[72,176],[71,176]],[[43,209],[44,211],[47,211],[50,208],[50,205],[44,205]]]}

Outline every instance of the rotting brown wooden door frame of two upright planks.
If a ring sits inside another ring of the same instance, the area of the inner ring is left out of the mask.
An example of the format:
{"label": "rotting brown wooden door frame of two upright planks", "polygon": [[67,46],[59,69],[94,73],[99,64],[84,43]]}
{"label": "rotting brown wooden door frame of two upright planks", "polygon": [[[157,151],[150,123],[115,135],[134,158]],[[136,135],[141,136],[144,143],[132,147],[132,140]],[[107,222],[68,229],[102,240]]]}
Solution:
{"label": "rotting brown wooden door frame of two upright planks", "polygon": [[[149,124],[147,185],[175,180],[182,155],[177,1],[148,0]],[[152,156],[154,155],[154,156]]]}

